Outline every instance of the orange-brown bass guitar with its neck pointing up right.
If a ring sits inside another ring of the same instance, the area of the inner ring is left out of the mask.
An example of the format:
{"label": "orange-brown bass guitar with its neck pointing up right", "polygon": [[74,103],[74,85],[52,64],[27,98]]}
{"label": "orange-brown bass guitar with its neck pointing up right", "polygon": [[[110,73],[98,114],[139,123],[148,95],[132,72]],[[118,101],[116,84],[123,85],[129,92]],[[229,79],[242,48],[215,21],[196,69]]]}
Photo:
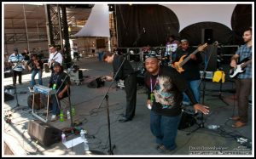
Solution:
{"label": "orange-brown bass guitar with its neck pointing up right", "polygon": [[[205,44],[203,44],[203,45],[201,45],[201,46],[199,46],[193,53],[191,53],[191,54],[196,54],[197,52],[201,52],[204,48],[206,48],[207,47],[207,43],[205,43]],[[183,70],[183,65],[184,64],[186,64],[190,59],[191,59],[191,57],[190,57],[190,54],[189,54],[189,56],[186,58],[186,59],[184,59],[185,57],[186,57],[187,55],[183,55],[177,62],[174,62],[173,64],[172,64],[172,67],[173,68],[175,68],[179,73],[181,73],[181,72],[183,72],[184,70]],[[184,59],[184,60],[183,60]]]}

